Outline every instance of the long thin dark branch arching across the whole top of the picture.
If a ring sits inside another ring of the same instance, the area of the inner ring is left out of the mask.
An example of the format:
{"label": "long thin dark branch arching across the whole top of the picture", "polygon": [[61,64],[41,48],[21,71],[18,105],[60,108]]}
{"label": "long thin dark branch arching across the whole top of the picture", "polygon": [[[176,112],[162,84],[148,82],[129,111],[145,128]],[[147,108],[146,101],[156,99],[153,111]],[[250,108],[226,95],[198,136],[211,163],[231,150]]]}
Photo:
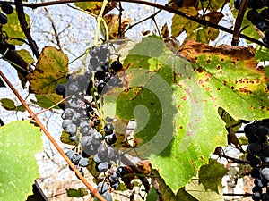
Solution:
{"label": "long thin dark branch arching across the whole top of the picture", "polygon": [[[43,6],[48,6],[48,5],[68,4],[68,3],[75,3],[75,2],[92,2],[92,1],[102,2],[102,0],[90,0],[90,1],[89,0],[59,0],[59,1],[50,1],[50,2],[37,3],[37,4],[25,3],[25,4],[23,4],[23,6],[30,7],[32,9],[36,9],[36,8],[43,7]],[[118,0],[111,0],[111,1],[112,2],[117,2]],[[178,14],[179,16],[187,18],[190,21],[195,21],[195,22],[200,23],[201,25],[204,25],[204,26],[207,26],[207,27],[220,29],[220,30],[225,31],[225,32],[230,33],[230,34],[233,34],[233,32],[234,32],[231,29],[228,29],[228,28],[223,27],[223,26],[218,25],[218,24],[214,24],[211,21],[205,21],[204,19],[200,19],[200,18],[197,18],[195,16],[188,15],[187,13],[180,12],[180,11],[172,8],[169,5],[156,4],[156,3],[148,2],[148,1],[144,1],[144,0],[122,0],[121,2],[149,5],[149,6],[152,6],[152,7],[159,8],[161,10],[167,11],[169,13]],[[269,48],[269,46],[265,45],[262,41],[259,41],[259,40],[255,39],[255,38],[247,37],[246,35],[241,34],[241,33],[239,33],[239,37],[247,39],[250,42],[256,43],[259,46],[265,46],[266,48]]]}

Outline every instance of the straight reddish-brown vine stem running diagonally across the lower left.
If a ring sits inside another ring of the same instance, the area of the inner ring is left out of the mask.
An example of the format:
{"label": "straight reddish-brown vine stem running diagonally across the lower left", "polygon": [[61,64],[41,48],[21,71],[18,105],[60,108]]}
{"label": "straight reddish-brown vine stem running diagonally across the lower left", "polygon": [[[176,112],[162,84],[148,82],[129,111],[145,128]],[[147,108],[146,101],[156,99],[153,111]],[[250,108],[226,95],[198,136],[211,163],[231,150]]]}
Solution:
{"label": "straight reddish-brown vine stem running diagonally across the lower left", "polygon": [[74,170],[75,174],[78,176],[78,178],[80,180],[82,180],[82,182],[85,184],[85,186],[87,188],[89,188],[89,190],[91,191],[91,194],[93,194],[94,197],[97,197],[98,199],[100,199],[100,201],[106,201],[106,199],[103,198],[103,197],[101,197],[101,195],[98,193],[98,189],[92,188],[91,187],[91,184],[82,176],[81,172],[79,172],[75,168],[74,163],[72,163],[71,160],[67,157],[67,155],[65,155],[64,150],[61,147],[59,147],[59,145],[56,143],[56,140],[50,135],[50,133],[45,128],[45,126],[41,123],[41,121],[39,121],[39,118],[35,115],[35,113],[32,112],[32,110],[30,109],[30,107],[23,100],[22,96],[13,87],[12,83],[4,76],[4,73],[2,71],[0,71],[0,76],[4,79],[5,83],[9,86],[9,88],[12,89],[13,93],[15,94],[15,96],[17,96],[19,98],[19,100],[21,101],[22,105],[25,107],[25,109],[28,111],[28,113],[30,113],[30,116],[33,117],[33,119],[39,125],[40,129],[45,133],[45,135],[48,137],[48,139],[54,145],[54,147],[56,147],[56,150],[60,153],[60,155],[62,155],[65,158],[66,163],[68,163],[69,166],[72,168],[72,170]]}

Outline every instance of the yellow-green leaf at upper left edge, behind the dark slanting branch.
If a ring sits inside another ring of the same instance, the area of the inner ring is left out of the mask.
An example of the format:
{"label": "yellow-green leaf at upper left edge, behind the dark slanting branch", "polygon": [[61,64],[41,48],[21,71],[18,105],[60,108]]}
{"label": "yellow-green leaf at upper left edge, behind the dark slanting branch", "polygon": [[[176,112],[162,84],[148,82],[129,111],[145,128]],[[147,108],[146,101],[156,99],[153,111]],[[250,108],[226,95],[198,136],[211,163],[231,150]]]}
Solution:
{"label": "yellow-green leaf at upper left edge, behind the dark slanting branch", "polygon": [[[12,14],[6,15],[8,23],[3,25],[2,30],[5,31],[9,37],[8,43],[13,45],[22,46],[23,42],[19,40],[13,40],[12,38],[25,38],[25,35],[22,31],[20,21],[18,21],[18,14],[13,10]],[[25,14],[25,19],[29,23],[30,18]]]}

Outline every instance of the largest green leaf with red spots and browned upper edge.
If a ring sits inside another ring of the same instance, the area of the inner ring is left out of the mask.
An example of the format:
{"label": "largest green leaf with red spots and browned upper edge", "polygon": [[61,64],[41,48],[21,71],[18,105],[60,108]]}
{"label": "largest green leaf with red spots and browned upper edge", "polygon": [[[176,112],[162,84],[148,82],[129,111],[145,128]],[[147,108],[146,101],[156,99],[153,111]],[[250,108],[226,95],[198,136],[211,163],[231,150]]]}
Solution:
{"label": "largest green leaf with red spots and browned upper edge", "polygon": [[118,119],[137,121],[135,152],[150,158],[174,193],[227,144],[220,107],[234,120],[269,117],[265,75],[247,47],[189,41],[180,55],[192,63],[160,39],[143,38],[126,57],[116,109]]}

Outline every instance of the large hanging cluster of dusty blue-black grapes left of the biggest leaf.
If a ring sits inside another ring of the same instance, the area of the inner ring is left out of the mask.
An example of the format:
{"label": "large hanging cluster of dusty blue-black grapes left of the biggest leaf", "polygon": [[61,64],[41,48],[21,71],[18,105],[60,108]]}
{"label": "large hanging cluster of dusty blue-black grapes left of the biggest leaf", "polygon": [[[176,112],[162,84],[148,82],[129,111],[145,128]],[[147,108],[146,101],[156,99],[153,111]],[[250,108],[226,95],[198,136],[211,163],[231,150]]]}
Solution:
{"label": "large hanging cluster of dusty blue-black grapes left of the biggest leaf", "polygon": [[[121,86],[117,72],[123,65],[117,59],[110,62],[108,46],[94,46],[89,50],[90,64],[83,75],[71,75],[67,84],[58,84],[56,94],[65,98],[65,111],[62,113],[63,133],[69,135],[76,145],[76,151],[68,150],[66,155],[74,163],[79,172],[84,175],[83,167],[90,163],[97,172],[107,172],[108,176],[98,183],[100,194],[107,200],[112,200],[110,189],[119,187],[119,178],[126,174],[124,166],[117,165],[119,155],[114,148],[117,134],[110,118],[104,120],[99,116],[97,107],[103,93],[109,89]],[[91,96],[92,101],[89,101]],[[89,160],[91,158],[91,161]]]}

